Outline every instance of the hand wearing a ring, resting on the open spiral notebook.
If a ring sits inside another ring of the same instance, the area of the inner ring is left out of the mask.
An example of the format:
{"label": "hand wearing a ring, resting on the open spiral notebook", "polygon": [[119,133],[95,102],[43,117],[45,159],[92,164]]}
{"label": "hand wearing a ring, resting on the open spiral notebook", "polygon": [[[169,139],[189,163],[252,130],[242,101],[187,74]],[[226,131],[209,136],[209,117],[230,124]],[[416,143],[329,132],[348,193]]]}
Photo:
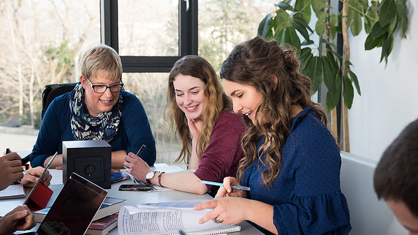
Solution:
{"label": "hand wearing a ring, resting on the open spiral notebook", "polygon": [[199,224],[217,218],[222,224],[239,224],[247,219],[248,199],[222,198],[199,203],[193,207],[195,210],[213,208],[199,220]]}

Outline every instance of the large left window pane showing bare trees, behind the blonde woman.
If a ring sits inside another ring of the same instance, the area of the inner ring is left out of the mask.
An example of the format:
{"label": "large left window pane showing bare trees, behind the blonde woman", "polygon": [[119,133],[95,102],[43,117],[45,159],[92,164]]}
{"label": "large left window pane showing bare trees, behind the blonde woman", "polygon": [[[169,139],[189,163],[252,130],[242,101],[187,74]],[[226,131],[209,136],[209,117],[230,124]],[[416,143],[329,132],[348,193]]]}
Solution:
{"label": "large left window pane showing bare trees, behind the blonde woman", "polygon": [[78,79],[80,54],[100,43],[100,1],[2,0],[0,35],[0,125],[20,127],[5,134],[18,146],[0,144],[32,150],[36,133],[16,135],[28,134],[22,125],[39,127],[46,84]]}

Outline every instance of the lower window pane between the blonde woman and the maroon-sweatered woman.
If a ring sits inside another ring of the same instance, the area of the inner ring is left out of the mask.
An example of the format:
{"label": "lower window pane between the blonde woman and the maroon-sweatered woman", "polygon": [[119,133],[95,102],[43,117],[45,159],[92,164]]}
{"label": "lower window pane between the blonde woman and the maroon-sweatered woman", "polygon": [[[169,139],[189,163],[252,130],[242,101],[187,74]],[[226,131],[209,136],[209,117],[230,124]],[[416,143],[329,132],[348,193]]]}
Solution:
{"label": "lower window pane between the blonde woman and the maroon-sweatered woman", "polygon": [[180,154],[181,146],[165,120],[168,73],[123,73],[127,92],[138,97],[147,113],[157,148],[156,163],[172,163]]}

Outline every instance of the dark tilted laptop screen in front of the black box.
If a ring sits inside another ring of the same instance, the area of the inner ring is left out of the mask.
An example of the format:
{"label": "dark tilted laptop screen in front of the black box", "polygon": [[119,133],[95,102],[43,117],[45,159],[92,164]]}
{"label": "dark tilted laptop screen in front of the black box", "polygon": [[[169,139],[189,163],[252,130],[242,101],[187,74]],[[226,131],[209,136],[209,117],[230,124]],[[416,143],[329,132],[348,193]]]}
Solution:
{"label": "dark tilted laptop screen in front of the black box", "polygon": [[83,235],[107,191],[72,173],[40,224],[40,235]]}

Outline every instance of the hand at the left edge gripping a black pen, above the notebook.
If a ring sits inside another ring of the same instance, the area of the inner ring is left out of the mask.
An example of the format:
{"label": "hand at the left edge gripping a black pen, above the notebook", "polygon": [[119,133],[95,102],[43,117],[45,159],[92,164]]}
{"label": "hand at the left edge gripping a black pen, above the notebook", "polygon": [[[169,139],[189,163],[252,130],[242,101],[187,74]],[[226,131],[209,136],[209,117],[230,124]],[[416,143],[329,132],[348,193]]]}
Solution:
{"label": "hand at the left edge gripping a black pen, above the notebook", "polygon": [[0,168],[0,190],[23,177],[22,161],[15,152],[0,157]]}

